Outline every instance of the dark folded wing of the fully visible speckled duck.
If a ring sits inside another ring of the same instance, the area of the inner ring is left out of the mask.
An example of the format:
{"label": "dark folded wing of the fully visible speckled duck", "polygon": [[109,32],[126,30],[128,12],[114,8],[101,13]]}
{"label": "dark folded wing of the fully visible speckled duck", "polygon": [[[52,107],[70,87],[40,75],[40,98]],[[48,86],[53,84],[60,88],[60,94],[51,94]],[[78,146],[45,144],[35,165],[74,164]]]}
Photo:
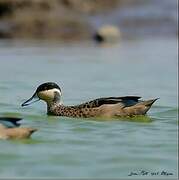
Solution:
{"label": "dark folded wing of the fully visible speckled duck", "polygon": [[123,96],[123,97],[106,97],[98,98],[80,105],[78,108],[97,108],[104,104],[117,104],[120,103],[123,107],[132,106],[139,102],[139,96]]}

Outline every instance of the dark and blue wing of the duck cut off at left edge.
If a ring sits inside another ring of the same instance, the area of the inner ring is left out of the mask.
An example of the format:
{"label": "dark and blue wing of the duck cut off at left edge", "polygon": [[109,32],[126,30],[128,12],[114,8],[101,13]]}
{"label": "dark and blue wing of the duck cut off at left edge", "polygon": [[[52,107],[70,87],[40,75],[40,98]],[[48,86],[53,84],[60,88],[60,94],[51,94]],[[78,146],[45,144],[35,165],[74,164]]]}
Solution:
{"label": "dark and blue wing of the duck cut off at left edge", "polygon": [[13,128],[20,126],[20,123],[18,123],[22,118],[16,118],[16,117],[0,117],[0,124],[4,125],[7,128]]}

